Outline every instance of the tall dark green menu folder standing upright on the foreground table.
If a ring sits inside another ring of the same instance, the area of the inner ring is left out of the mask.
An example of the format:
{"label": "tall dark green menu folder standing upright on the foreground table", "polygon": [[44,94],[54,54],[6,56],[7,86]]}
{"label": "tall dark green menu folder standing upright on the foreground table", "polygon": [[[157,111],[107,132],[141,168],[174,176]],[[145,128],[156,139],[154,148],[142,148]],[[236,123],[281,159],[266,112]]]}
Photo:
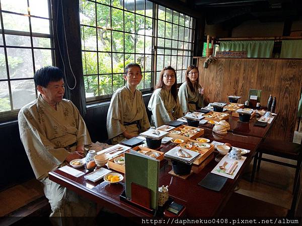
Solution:
{"label": "tall dark green menu folder standing upright on the foreground table", "polygon": [[150,208],[158,208],[158,187],[160,161],[142,155],[136,151],[125,152],[125,190],[126,197],[131,199],[131,183],[150,190]]}

